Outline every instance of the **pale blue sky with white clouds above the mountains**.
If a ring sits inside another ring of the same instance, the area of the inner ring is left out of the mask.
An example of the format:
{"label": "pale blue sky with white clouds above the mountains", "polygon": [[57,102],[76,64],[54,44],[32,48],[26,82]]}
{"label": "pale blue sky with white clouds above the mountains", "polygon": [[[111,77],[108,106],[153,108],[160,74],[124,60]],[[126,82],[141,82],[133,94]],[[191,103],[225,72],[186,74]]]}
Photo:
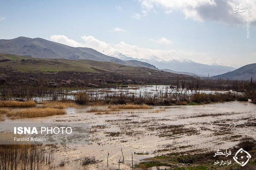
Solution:
{"label": "pale blue sky with white clouds above the mountains", "polygon": [[137,58],[189,59],[236,68],[256,63],[256,0],[0,0],[0,4],[0,39],[41,37],[103,54],[118,51]]}

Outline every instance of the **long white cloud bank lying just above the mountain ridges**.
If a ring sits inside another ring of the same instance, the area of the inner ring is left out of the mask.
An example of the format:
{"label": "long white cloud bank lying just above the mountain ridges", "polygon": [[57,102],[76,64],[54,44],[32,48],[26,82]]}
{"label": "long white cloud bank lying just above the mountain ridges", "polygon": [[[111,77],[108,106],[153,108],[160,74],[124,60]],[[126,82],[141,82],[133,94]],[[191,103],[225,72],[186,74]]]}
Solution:
{"label": "long white cloud bank lying just above the mountain ridges", "polygon": [[195,52],[195,51],[176,51],[176,50],[155,50],[150,48],[143,48],[136,45],[127,44],[123,41],[120,43],[106,43],[105,41],[101,41],[96,39],[93,36],[82,36],[82,43],[76,42],[75,40],[68,39],[68,37],[64,35],[52,35],[50,36],[50,40],[55,41],[57,43],[63,43],[72,47],[89,47],[97,50],[99,52],[103,52],[104,54],[109,54],[113,51],[118,51],[123,54],[129,54],[131,56],[136,56],[138,58],[150,59],[150,58],[160,58],[162,60],[170,60],[170,59],[189,59],[194,62],[199,63],[213,63],[216,61],[216,56],[212,56],[206,53]]}

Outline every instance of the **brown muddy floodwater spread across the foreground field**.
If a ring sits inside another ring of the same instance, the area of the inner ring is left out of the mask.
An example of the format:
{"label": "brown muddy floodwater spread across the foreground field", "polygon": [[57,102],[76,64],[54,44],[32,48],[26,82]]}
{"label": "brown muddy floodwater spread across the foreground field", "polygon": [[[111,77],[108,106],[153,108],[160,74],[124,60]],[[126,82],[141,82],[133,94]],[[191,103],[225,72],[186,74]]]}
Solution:
{"label": "brown muddy floodwater spread across the foreground field", "polygon": [[[107,169],[108,152],[109,169],[117,169],[121,149],[125,163],[120,169],[130,169],[131,153],[133,164],[138,164],[144,158],[170,152],[227,149],[256,135],[256,104],[249,102],[156,106],[108,114],[87,112],[91,107],[95,106],[66,108],[66,115],[5,121],[89,123],[89,145],[63,146],[55,153],[56,165],[60,160],[67,162],[61,169]],[[107,110],[107,106],[97,107]],[[77,160],[84,156],[101,162],[82,166]]]}

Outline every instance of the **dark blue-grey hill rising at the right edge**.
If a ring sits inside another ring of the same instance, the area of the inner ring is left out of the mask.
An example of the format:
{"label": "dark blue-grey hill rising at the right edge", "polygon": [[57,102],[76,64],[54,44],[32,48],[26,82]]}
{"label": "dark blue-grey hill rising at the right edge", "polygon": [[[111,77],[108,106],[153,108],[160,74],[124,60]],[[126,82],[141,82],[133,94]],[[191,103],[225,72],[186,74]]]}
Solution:
{"label": "dark blue-grey hill rising at the right edge", "polygon": [[237,70],[227,72],[225,74],[213,76],[213,78],[221,79],[232,79],[232,80],[250,80],[251,77],[256,79],[256,63],[247,64],[243,67],[238,68]]}

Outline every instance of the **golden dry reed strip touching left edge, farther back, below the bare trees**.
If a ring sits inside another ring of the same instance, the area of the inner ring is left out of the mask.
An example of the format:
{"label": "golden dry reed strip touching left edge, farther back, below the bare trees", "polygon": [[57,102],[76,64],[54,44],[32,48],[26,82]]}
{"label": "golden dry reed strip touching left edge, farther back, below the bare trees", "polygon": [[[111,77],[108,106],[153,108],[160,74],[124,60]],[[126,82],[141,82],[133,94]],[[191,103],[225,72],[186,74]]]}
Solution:
{"label": "golden dry reed strip touching left edge, farther back, below the bare trees", "polygon": [[16,100],[2,100],[0,101],[0,107],[34,107],[34,100],[27,100],[24,102],[16,101]]}

